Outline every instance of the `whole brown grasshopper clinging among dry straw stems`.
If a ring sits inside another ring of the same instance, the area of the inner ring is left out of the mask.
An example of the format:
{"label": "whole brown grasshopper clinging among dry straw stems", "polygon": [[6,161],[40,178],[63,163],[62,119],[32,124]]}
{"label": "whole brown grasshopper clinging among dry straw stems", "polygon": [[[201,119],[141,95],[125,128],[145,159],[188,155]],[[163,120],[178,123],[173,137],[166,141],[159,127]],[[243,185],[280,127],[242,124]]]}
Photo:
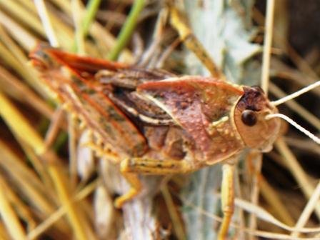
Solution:
{"label": "whole brown grasshopper clinging among dry straw stems", "polygon": [[94,132],[96,147],[131,184],[121,207],[141,191],[139,174],[185,174],[222,162],[225,239],[234,212],[234,164],[244,149],[269,151],[280,119],[258,86],[176,76],[81,57],[39,44],[31,62],[59,100]]}

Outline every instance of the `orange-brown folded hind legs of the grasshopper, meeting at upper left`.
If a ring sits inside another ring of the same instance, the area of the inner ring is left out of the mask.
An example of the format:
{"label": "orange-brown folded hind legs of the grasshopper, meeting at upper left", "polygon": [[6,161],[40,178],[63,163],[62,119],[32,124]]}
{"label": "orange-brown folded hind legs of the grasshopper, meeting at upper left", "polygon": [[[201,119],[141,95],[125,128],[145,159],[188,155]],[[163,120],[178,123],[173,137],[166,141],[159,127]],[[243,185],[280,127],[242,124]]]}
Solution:
{"label": "orange-brown folded hind legs of the grasshopper, meeting at upper left", "polygon": [[31,52],[30,58],[46,85],[86,122],[104,146],[121,157],[144,154],[147,147],[144,136],[94,79],[96,71],[117,71],[126,65],[76,56],[42,45]]}

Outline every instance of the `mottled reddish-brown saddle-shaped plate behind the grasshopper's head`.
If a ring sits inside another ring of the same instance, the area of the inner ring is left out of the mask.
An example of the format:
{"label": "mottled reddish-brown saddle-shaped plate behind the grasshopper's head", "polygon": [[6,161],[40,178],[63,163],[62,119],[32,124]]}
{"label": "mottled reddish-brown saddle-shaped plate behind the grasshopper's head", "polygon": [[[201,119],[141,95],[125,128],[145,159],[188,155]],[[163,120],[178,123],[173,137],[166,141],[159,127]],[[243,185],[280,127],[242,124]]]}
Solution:
{"label": "mottled reddish-brown saddle-shaped plate behind the grasshopper's head", "polygon": [[142,84],[137,91],[170,113],[194,141],[185,157],[196,166],[223,161],[244,147],[232,116],[241,88],[212,78],[183,76]]}

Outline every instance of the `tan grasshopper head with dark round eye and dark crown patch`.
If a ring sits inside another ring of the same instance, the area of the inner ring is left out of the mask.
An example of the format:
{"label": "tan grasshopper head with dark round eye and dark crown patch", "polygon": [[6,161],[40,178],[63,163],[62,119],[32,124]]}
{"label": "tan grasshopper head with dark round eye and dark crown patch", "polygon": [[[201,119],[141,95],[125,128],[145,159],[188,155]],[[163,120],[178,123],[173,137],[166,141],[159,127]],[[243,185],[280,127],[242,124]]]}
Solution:
{"label": "tan grasshopper head with dark round eye and dark crown patch", "polygon": [[234,122],[247,147],[260,151],[272,149],[281,121],[278,118],[267,120],[266,116],[277,112],[259,86],[244,86],[244,95],[234,109]]}

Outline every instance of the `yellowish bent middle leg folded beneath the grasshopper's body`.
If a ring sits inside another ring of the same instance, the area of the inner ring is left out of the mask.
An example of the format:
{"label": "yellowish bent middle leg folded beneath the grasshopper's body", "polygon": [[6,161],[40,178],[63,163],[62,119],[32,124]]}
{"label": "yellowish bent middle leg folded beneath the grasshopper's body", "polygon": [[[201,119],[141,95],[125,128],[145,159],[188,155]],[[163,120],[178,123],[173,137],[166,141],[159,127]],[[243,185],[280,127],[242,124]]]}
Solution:
{"label": "yellowish bent middle leg folded beneath the grasshopper's body", "polygon": [[142,184],[139,181],[139,174],[150,175],[166,175],[166,174],[184,174],[192,171],[192,167],[188,161],[181,160],[157,160],[145,158],[126,159],[120,164],[120,171],[124,178],[131,184],[131,189],[124,195],[119,196],[114,202],[117,208],[138,195],[142,189]]}

